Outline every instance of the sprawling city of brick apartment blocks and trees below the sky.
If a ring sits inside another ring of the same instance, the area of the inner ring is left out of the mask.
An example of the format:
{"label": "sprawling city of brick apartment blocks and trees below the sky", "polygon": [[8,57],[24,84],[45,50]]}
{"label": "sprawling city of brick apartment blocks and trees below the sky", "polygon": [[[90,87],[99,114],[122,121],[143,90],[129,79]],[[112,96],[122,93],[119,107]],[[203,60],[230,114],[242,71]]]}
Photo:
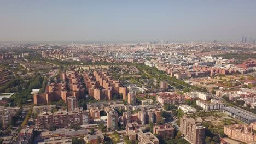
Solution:
{"label": "sprawling city of brick apartment blocks and trees below the sky", "polygon": [[[249,42],[249,43],[248,43]],[[0,44],[2,143],[256,143],[256,44]]]}

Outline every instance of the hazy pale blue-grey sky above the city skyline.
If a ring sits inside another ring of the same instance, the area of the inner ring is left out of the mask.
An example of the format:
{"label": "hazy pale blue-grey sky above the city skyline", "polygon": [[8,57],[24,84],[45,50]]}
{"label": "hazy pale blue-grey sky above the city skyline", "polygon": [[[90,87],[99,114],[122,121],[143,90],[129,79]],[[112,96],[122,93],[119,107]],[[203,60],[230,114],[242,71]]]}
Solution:
{"label": "hazy pale blue-grey sky above the city skyline", "polygon": [[256,1],[0,1],[0,41],[208,41],[256,37]]}

